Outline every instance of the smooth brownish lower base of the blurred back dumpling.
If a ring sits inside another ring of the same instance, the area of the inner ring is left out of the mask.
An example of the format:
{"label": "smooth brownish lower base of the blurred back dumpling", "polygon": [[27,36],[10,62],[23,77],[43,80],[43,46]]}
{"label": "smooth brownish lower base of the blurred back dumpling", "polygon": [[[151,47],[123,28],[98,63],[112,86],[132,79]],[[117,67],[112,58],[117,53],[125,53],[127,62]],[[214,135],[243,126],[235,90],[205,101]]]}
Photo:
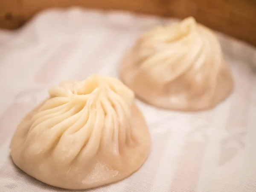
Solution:
{"label": "smooth brownish lower base of the blurred back dumpling", "polygon": [[[210,92],[209,87],[209,90],[205,90],[206,94],[198,94],[194,98],[189,98],[182,81],[177,79],[173,84],[158,83],[146,70],[140,69],[134,63],[133,55],[133,52],[126,55],[120,68],[120,79],[134,91],[137,98],[149,105],[174,111],[204,111],[223,102],[233,91],[233,78],[230,70],[225,66],[217,76],[212,95],[207,95]],[[173,94],[169,91],[172,86],[180,87],[183,93]]]}

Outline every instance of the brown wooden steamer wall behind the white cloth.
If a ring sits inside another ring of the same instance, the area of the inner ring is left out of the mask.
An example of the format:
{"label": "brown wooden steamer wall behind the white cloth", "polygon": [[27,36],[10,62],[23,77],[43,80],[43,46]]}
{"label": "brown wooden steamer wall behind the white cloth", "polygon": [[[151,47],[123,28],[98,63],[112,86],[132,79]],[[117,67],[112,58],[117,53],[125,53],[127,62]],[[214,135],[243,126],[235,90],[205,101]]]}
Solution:
{"label": "brown wooden steamer wall behind the white cloth", "polygon": [[194,16],[212,29],[256,46],[256,0],[0,0],[0,27],[17,29],[41,10],[70,6]]}

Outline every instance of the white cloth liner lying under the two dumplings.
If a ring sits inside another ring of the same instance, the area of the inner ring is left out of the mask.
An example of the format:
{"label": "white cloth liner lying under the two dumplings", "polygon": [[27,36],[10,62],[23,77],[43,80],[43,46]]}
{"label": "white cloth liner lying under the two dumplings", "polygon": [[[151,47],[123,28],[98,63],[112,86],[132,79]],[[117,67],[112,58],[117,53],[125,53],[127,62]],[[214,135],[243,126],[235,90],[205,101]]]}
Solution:
{"label": "white cloth liner lying under the two dumplings", "polygon": [[[17,124],[51,85],[93,73],[118,77],[139,35],[173,19],[86,9],[42,12],[22,29],[0,31],[0,192],[66,192],[17,169],[9,144]],[[134,175],[90,192],[256,191],[256,48],[219,34],[233,94],[210,111],[179,113],[137,101],[152,137]]]}

